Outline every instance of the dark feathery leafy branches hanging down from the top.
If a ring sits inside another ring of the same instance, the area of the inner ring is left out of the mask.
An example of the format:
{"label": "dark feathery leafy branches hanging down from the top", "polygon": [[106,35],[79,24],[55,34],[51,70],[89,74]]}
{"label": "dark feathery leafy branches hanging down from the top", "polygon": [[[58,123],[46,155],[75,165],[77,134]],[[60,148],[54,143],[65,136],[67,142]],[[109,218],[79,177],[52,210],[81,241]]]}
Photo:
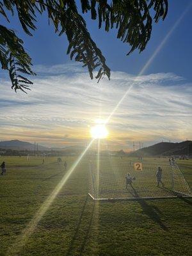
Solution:
{"label": "dark feathery leafy branches hanging down from the top", "polygon": [[[86,22],[79,12],[90,12],[91,19],[98,20],[99,28],[106,31],[116,28],[117,38],[131,45],[130,54],[135,49],[143,51],[150,40],[152,20],[164,19],[168,10],[168,0],[3,0],[0,1],[0,13],[7,22],[8,13],[18,15],[25,33],[32,36],[36,29],[36,14],[45,14],[55,33],[67,35],[70,59],[83,63],[93,79],[93,70],[98,70],[97,79],[106,75],[110,69],[106,59],[93,42],[86,28]],[[152,17],[152,14],[154,17]],[[35,75],[31,69],[31,58],[23,47],[24,42],[13,29],[0,25],[0,61],[2,68],[8,70],[15,92],[24,92],[33,84],[27,78]]]}

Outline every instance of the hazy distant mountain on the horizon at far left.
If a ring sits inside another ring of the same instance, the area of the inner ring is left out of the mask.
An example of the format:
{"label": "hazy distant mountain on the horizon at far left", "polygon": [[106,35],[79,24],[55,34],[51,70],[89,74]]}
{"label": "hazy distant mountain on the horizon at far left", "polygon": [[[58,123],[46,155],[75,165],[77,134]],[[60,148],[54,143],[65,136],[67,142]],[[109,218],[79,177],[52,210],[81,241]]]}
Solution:
{"label": "hazy distant mountain on the horizon at far left", "polygon": [[[0,141],[0,148],[14,149],[14,150],[34,150],[34,144],[20,141],[20,140],[8,140]],[[38,145],[38,150],[49,150],[50,148]]]}

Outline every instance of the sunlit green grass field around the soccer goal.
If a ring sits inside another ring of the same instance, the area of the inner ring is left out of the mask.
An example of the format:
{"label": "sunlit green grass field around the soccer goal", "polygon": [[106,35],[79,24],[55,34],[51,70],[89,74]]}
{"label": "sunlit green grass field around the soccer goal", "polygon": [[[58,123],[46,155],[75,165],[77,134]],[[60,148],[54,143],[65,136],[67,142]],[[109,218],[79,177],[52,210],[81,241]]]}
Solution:
{"label": "sunlit green grass field around the soccer goal", "polygon": [[[87,196],[88,164],[82,161],[33,230],[28,224],[65,175],[64,166],[57,157],[44,164],[37,157],[0,159],[7,169],[0,177],[1,256],[192,255],[191,198],[95,202]],[[67,169],[76,160],[64,159]],[[177,163],[192,186],[192,161]]]}

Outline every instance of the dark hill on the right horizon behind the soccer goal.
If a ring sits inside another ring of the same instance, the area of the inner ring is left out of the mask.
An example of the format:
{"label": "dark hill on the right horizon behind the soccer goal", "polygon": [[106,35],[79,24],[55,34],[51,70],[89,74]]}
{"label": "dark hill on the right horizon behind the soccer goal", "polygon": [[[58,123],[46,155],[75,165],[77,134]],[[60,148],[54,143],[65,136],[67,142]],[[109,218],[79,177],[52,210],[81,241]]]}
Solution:
{"label": "dark hill on the right horizon behind the soccer goal", "polygon": [[192,141],[180,143],[161,142],[150,147],[131,152],[130,156],[171,156],[192,154]]}

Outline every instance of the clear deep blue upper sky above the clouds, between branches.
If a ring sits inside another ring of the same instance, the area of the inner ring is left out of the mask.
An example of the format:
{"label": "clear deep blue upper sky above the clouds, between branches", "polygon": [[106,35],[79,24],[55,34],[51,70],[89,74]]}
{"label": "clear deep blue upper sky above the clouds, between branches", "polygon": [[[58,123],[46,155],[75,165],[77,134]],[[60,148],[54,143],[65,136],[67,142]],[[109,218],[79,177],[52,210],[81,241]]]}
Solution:
{"label": "clear deep blue upper sky above the clouds, between branches", "polygon": [[[189,6],[189,3],[189,0],[170,0],[168,15],[164,21],[160,20],[158,24],[154,24],[151,40],[148,42],[145,51],[141,52],[141,54],[135,51],[130,56],[126,56],[126,53],[129,51],[129,45],[123,44],[120,40],[116,39],[115,30],[106,33],[104,28],[98,29],[97,20],[88,19],[90,14],[83,15],[83,17],[86,17],[88,30],[104,56],[106,56],[111,70],[138,74],[164,36],[172,29],[181,13]],[[179,76],[189,79],[189,81],[192,80],[191,10],[192,8],[188,10],[179,26],[173,31],[172,36],[170,36],[162,51],[159,52],[156,60],[148,68],[147,74],[174,72]],[[47,26],[46,15],[38,17],[38,20],[40,20],[36,25],[38,29],[33,33],[33,37],[25,35],[15,19],[9,25],[10,28],[15,28],[21,38],[24,38],[25,47],[33,59],[33,64],[56,65],[68,62],[69,57],[66,55],[68,44],[65,36],[54,34],[53,27]]]}

